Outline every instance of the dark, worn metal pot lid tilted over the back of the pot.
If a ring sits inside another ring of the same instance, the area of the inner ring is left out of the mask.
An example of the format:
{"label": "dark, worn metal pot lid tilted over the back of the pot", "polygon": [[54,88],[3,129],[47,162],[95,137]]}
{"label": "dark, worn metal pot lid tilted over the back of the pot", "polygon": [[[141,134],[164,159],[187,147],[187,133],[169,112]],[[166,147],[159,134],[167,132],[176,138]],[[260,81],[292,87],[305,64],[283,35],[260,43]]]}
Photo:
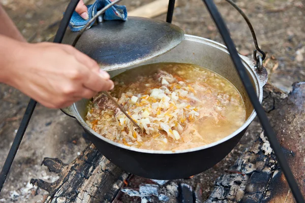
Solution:
{"label": "dark, worn metal pot lid tilted over the back of the pot", "polygon": [[[78,32],[67,29],[64,44],[72,44]],[[176,25],[150,18],[128,17],[98,23],[84,31],[75,48],[95,59],[103,70],[132,66],[164,54],[184,39]]]}

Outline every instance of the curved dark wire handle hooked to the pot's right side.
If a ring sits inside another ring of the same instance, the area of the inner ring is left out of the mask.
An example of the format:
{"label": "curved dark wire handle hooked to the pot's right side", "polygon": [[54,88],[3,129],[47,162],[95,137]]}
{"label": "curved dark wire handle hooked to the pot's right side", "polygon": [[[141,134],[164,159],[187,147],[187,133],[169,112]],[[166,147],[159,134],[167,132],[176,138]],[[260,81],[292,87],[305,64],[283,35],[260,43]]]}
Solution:
{"label": "curved dark wire handle hooked to the pot's right side", "polygon": [[[252,33],[252,37],[253,37],[253,41],[254,41],[254,46],[256,48],[253,51],[253,59],[256,61],[256,66],[257,66],[258,71],[261,72],[263,70],[263,60],[266,58],[266,54],[258,46],[256,35],[255,35],[255,31],[254,31],[254,28],[253,28],[249,18],[247,17],[247,15],[245,13],[243,13],[243,11],[232,0],[225,0],[225,1],[228,2],[229,4],[231,4],[240,13],[240,15],[243,17],[243,19],[245,19],[245,21],[247,22],[247,24],[249,26],[249,29],[250,29],[250,31]],[[259,53],[261,53],[262,56],[260,56],[260,55],[257,56],[257,54],[256,54],[257,51]]]}

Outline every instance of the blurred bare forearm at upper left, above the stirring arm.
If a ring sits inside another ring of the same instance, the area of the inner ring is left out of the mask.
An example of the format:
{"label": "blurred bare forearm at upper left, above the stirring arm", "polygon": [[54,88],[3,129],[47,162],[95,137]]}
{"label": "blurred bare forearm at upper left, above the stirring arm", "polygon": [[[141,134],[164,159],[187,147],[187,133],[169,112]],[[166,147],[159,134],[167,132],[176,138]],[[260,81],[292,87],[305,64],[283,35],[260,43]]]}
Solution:
{"label": "blurred bare forearm at upper left, above the stirring arm", "polygon": [[0,35],[7,36],[21,42],[26,41],[1,5],[0,19]]}

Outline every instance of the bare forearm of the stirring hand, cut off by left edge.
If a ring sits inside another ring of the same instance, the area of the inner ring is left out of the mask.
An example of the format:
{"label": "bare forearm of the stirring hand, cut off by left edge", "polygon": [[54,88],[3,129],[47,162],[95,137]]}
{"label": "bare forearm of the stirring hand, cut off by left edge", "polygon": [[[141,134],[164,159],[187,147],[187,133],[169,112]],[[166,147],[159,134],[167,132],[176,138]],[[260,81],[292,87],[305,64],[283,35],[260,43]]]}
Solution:
{"label": "bare forearm of the stirring hand, cut off by left edge", "polygon": [[25,43],[0,35],[0,83],[13,85],[15,63],[20,60],[21,48]]}

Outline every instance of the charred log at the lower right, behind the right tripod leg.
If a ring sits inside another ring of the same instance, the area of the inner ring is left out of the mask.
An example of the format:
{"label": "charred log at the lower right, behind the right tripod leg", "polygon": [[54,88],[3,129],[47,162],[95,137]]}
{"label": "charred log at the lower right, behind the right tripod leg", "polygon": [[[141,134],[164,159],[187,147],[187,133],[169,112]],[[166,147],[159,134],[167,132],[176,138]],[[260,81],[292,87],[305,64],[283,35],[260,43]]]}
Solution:
{"label": "charred log at the lower right, behind the right tripod leg", "polygon": [[[285,95],[266,85],[263,106],[305,194],[305,83],[294,83]],[[263,132],[231,168],[220,176],[206,202],[294,202],[284,174]]]}

